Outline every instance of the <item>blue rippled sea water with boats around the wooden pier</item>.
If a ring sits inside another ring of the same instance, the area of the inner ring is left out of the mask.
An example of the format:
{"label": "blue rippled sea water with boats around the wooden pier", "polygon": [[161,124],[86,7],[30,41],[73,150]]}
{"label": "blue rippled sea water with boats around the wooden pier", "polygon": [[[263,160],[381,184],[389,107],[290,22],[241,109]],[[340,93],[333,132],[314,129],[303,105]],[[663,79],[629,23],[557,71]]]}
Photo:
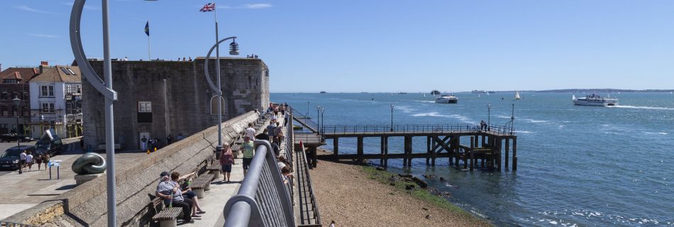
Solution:
{"label": "blue rippled sea water with boats around the wooden pier", "polygon": [[[390,160],[390,170],[436,175],[429,184],[453,202],[499,226],[674,226],[674,95],[612,94],[620,106],[573,106],[571,94],[458,94],[458,104],[436,104],[426,94],[271,94],[325,125],[506,123],[514,103],[519,157],[516,172],[455,170],[447,159],[435,167]],[[583,94],[575,94],[582,96]],[[502,98],[504,98],[502,100]],[[307,109],[308,107],[308,109]],[[331,140],[325,148],[331,149]],[[401,150],[402,140],[391,141]],[[426,149],[423,138],[414,150]],[[341,139],[341,153],[355,153]],[[365,139],[365,153],[379,140]],[[375,161],[378,163],[378,161]],[[439,177],[448,179],[440,182]]]}

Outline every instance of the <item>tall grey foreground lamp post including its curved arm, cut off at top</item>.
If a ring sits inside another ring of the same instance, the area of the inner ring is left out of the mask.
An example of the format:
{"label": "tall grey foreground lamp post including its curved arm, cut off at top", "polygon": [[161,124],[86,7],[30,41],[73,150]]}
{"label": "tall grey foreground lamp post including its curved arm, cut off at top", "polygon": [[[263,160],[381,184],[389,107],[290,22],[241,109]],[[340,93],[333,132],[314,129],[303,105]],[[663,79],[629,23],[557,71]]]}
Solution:
{"label": "tall grey foreground lamp post including its curved arm, cut off at top", "polygon": [[72,54],[79,65],[84,77],[92,84],[96,91],[101,92],[105,97],[105,150],[108,165],[106,167],[107,180],[107,208],[108,208],[108,226],[117,226],[117,197],[115,182],[115,131],[113,119],[113,102],[117,100],[117,92],[112,89],[112,68],[110,59],[110,28],[108,16],[108,0],[101,0],[101,10],[103,11],[103,74],[105,81],[94,72],[92,65],[87,61],[87,55],[84,55],[82,49],[82,38],[80,37],[80,21],[82,21],[82,9],[87,0],[75,0],[72,4],[70,13],[70,47]]}

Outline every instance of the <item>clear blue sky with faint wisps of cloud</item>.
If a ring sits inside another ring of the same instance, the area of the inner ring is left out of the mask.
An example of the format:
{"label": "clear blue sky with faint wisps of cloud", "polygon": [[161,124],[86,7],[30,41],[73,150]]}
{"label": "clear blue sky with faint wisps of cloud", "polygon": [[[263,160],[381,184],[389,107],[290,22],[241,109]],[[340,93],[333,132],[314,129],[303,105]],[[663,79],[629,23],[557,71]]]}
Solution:
{"label": "clear blue sky with faint wisps of cloud", "polygon": [[[3,68],[72,63],[73,0],[0,0]],[[208,1],[109,0],[111,56],[203,57]],[[271,92],[674,89],[674,1],[216,1],[220,37],[270,67]],[[82,18],[102,56],[101,1]],[[223,55],[227,52],[223,51]]]}

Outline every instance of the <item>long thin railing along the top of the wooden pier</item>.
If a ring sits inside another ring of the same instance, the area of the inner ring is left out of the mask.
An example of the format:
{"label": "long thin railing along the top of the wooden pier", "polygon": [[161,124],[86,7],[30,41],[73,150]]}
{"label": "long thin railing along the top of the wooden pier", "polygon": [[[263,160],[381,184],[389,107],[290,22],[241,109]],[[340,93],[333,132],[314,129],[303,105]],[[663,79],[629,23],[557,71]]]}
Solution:
{"label": "long thin railing along the top of the wooden pier", "polygon": [[349,133],[477,133],[488,132],[499,135],[512,135],[509,126],[446,124],[446,125],[351,125],[324,126],[324,134]]}

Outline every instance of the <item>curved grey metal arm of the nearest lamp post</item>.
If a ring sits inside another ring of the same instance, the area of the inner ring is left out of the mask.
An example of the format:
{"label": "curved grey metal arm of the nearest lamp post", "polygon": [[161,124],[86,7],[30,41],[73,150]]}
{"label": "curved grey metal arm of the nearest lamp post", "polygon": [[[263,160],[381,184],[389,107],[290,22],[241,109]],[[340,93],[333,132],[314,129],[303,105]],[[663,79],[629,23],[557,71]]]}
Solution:
{"label": "curved grey metal arm of the nearest lamp post", "polygon": [[72,4],[72,12],[70,13],[70,48],[72,48],[72,55],[74,55],[75,61],[77,61],[77,65],[79,65],[79,70],[82,71],[82,75],[89,80],[89,83],[94,86],[94,89],[101,92],[107,99],[116,101],[117,92],[106,87],[105,82],[98,74],[96,74],[96,72],[94,72],[94,67],[87,61],[87,55],[84,55],[79,25],[82,21],[82,10],[84,9],[84,3],[86,1],[87,0],[75,0],[74,4]]}

